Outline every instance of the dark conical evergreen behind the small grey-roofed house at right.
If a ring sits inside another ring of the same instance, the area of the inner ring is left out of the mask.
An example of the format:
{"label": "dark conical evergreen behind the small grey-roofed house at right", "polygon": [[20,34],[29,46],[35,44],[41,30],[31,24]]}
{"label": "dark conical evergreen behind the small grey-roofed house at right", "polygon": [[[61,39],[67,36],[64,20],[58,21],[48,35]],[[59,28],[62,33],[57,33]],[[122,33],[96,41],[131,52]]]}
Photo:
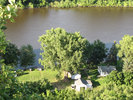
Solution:
{"label": "dark conical evergreen behind the small grey-roofed house at right", "polygon": [[106,63],[110,65],[117,65],[117,53],[116,41],[114,41],[109,53],[107,54]]}

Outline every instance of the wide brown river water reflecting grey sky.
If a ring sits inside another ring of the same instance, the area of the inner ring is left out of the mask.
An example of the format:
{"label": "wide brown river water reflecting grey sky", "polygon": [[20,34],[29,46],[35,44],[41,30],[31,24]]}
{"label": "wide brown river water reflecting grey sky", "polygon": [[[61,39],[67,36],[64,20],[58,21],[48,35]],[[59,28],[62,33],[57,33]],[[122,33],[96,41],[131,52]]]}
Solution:
{"label": "wide brown river water reflecting grey sky", "polygon": [[7,40],[20,48],[30,44],[36,53],[36,63],[41,56],[39,36],[46,30],[57,27],[68,32],[80,31],[81,35],[92,43],[100,39],[108,48],[114,40],[125,34],[133,35],[133,8],[39,8],[18,10],[15,23],[6,24]]}

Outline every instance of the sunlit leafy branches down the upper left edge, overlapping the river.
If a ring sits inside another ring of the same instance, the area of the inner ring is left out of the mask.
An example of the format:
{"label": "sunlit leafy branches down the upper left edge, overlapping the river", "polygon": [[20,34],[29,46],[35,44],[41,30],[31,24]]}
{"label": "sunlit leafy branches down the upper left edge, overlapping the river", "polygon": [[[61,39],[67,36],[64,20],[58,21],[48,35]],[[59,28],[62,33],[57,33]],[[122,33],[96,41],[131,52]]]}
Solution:
{"label": "sunlit leafy branches down the upper left edge, overlapping the river", "polygon": [[6,24],[6,20],[9,19],[11,22],[14,22],[13,17],[17,16],[16,14],[17,7],[14,3],[8,4],[7,6],[0,5],[0,64],[3,63],[4,59],[2,60],[1,54],[5,53],[5,49],[7,43],[5,33],[3,32],[4,24]]}

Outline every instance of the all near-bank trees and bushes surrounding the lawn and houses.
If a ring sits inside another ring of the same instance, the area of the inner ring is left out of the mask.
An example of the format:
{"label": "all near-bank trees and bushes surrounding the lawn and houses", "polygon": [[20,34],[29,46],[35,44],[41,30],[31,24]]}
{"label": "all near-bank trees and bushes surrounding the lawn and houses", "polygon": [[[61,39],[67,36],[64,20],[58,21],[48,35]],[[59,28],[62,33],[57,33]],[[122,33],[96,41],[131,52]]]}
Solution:
{"label": "all near-bank trees and bushes surrounding the lawn and houses", "polygon": [[[57,70],[59,72],[57,79],[60,79],[61,71],[78,72],[80,68],[96,68],[104,58],[105,64],[116,65],[118,63],[116,56],[120,62],[117,67],[121,69],[112,71],[105,77],[106,84],[98,90],[87,89],[76,92],[55,88],[51,91],[53,86],[45,78],[36,82],[22,83],[14,77],[15,73],[12,72],[18,60],[21,66],[26,68],[34,64],[35,54],[30,45],[22,46],[19,50],[6,40],[5,24],[7,20],[14,22],[17,6],[15,4],[0,6],[0,12],[0,100],[132,100],[133,36],[124,35],[120,43],[114,42],[107,52],[108,49],[100,40],[90,44],[79,32],[68,33],[63,28],[46,30],[46,35],[40,36],[38,40],[41,50],[45,51],[41,53],[42,59],[39,59],[39,63],[46,69]],[[18,73],[23,75],[21,71]]]}

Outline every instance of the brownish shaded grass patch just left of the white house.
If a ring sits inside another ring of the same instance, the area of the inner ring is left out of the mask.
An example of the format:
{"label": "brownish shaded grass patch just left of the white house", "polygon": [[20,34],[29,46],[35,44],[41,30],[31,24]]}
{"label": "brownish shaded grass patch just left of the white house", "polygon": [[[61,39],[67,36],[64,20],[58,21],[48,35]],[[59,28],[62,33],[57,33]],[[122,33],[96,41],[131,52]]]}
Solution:
{"label": "brownish shaded grass patch just left of the white house", "polygon": [[58,90],[66,89],[70,88],[71,84],[74,84],[74,80],[68,78],[68,81],[60,80],[57,82],[52,82],[51,84],[54,86],[54,88],[57,88]]}

